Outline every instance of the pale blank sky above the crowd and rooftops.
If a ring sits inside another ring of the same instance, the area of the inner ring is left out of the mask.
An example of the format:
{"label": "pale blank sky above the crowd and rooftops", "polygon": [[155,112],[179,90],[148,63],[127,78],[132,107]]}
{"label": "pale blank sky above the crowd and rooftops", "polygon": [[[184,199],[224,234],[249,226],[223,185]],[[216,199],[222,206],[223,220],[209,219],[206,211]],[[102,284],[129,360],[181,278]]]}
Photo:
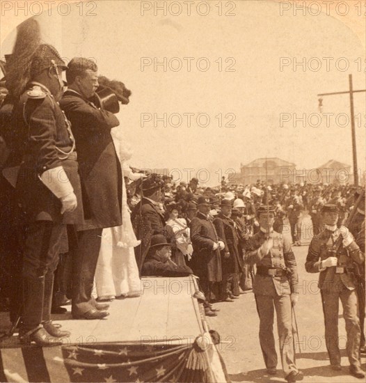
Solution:
{"label": "pale blank sky above the crowd and rooftops", "polygon": [[[63,57],[93,57],[100,74],[132,91],[117,129],[132,145],[133,166],[180,169],[176,178],[189,173],[184,169],[208,169],[209,185],[258,157],[298,169],[329,159],[352,164],[349,95],[323,97],[327,118],[317,93],[348,91],[349,74],[353,88],[366,88],[365,36],[342,17],[281,15],[275,1],[221,1],[222,15],[219,1],[203,2],[206,16],[196,1],[191,15],[185,5],[174,15],[177,4],[154,15],[164,3],[94,1],[70,6],[66,16],[54,10],[38,17],[45,42]],[[0,37],[3,57],[15,32]],[[164,58],[166,68],[154,68]],[[294,65],[301,62],[305,67]],[[366,93],[356,93],[354,105],[358,167],[365,169]]]}

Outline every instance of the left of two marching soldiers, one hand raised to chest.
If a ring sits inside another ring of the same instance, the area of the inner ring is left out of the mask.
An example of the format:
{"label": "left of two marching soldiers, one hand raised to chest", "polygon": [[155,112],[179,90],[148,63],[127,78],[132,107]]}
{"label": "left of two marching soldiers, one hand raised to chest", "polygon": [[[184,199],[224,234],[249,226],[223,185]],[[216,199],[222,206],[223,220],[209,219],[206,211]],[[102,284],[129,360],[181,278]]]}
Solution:
{"label": "left of two marching soldiers, one hand raised to chest", "polygon": [[253,292],[260,316],[260,346],[267,373],[277,373],[277,353],[273,336],[273,314],[276,308],[280,353],[287,382],[303,379],[295,364],[292,338],[292,306],[296,293],[298,274],[296,260],[287,237],[273,231],[275,210],[261,205],[257,210],[260,230],[248,239],[245,259],[257,265]]}

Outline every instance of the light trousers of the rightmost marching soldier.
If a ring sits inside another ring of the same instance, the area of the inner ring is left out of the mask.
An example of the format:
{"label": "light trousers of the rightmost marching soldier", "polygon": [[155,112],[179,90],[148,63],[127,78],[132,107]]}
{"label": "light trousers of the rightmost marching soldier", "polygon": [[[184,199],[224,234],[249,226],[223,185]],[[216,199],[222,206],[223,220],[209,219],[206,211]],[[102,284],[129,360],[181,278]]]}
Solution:
{"label": "light trousers of the rightmost marching soldier", "polygon": [[328,292],[321,290],[323,303],[326,349],[331,364],[340,364],[338,337],[338,311],[340,300],[347,331],[347,354],[351,366],[360,366],[360,320],[358,318],[358,297],[356,290],[343,286],[342,290]]}

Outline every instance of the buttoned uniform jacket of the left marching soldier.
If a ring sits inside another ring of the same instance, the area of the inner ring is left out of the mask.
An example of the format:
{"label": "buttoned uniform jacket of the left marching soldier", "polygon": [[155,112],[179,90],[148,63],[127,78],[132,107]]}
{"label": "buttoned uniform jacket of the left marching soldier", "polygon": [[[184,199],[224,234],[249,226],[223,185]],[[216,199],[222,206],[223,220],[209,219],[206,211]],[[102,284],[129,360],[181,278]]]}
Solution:
{"label": "buttoned uniform jacket of the left marching soldier", "polygon": [[[291,244],[287,237],[273,231],[273,247],[269,253],[262,258],[260,247],[266,240],[266,233],[262,230],[255,233],[246,243],[245,260],[250,265],[257,265],[264,269],[282,269],[282,276],[263,276],[255,274],[253,292],[257,295],[271,295],[273,286],[278,295],[286,295],[296,292],[299,277],[296,269],[296,260]],[[286,275],[287,274],[287,275]]]}

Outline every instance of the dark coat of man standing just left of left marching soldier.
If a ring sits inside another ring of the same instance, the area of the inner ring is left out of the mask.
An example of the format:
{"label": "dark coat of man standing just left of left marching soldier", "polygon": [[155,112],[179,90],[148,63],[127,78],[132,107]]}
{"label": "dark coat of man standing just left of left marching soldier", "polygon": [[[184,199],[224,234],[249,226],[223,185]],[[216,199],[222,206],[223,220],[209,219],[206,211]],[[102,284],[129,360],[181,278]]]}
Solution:
{"label": "dark coat of man standing just left of left marching soldier", "polygon": [[[225,217],[222,213],[214,219],[214,226],[218,237],[222,238],[225,248],[221,250],[221,265],[224,273],[241,272],[241,262],[239,259],[238,243],[239,238],[234,221],[229,217]],[[224,253],[230,253],[229,258],[224,257]]]}

